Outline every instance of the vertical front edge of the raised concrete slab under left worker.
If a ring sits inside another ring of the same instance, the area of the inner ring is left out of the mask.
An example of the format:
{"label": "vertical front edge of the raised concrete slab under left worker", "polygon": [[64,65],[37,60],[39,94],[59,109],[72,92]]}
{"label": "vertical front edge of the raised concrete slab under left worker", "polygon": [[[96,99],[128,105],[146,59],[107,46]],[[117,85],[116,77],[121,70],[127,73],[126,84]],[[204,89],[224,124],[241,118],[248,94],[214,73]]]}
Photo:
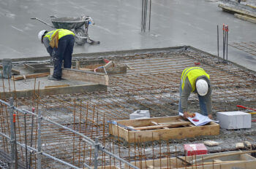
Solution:
{"label": "vertical front edge of the raised concrete slab under left worker", "polygon": [[53,87],[45,88],[40,90],[18,90],[11,92],[1,92],[0,98],[29,98],[38,97],[45,95],[64,95],[64,94],[75,94],[75,93],[86,93],[96,91],[107,91],[108,87],[101,84],[83,84],[68,87]]}

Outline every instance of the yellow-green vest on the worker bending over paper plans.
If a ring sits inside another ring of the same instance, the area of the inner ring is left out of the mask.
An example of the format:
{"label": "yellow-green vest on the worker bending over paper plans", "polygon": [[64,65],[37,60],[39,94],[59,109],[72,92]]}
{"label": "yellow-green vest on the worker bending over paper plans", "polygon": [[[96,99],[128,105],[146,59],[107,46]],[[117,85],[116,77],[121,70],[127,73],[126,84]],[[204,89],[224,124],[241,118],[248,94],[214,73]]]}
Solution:
{"label": "yellow-green vest on the worker bending over paper plans", "polygon": [[210,79],[210,76],[208,74],[206,74],[206,71],[204,71],[203,68],[200,68],[200,67],[185,68],[181,74],[182,90],[184,89],[186,78],[188,77],[189,82],[192,87],[192,92],[194,92],[195,91],[195,80],[197,79],[198,76],[203,76],[203,75],[206,75],[208,77],[208,79]]}

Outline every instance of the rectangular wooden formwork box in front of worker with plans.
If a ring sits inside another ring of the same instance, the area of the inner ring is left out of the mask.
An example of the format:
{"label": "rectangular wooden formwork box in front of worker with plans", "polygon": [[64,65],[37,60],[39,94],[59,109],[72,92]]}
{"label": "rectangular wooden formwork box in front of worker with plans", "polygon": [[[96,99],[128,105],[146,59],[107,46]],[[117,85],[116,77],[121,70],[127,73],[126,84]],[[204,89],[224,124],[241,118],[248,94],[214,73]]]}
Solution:
{"label": "rectangular wooden formwork box in front of worker with plans", "polygon": [[109,133],[124,138],[129,143],[219,135],[219,125],[215,122],[195,126],[182,117],[157,117],[116,122],[117,125],[110,122]]}

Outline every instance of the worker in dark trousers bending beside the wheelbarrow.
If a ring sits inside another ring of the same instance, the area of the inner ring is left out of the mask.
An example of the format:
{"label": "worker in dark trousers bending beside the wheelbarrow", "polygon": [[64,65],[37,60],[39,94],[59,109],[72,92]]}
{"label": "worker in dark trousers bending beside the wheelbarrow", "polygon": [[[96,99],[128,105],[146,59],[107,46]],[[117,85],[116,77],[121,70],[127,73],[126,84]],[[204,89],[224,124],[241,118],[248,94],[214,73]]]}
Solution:
{"label": "worker in dark trousers bending beside the wheelbarrow", "polygon": [[39,31],[38,38],[53,59],[53,76],[48,76],[48,79],[61,80],[62,60],[64,60],[64,68],[71,68],[74,36],[75,34],[67,29]]}

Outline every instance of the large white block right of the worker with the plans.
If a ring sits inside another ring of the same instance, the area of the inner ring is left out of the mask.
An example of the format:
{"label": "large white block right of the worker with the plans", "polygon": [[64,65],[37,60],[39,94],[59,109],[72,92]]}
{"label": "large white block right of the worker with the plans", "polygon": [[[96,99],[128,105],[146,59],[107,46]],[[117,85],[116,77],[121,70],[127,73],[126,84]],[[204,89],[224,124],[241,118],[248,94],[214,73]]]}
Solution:
{"label": "large white block right of the worker with the plans", "polygon": [[243,111],[217,112],[219,125],[225,129],[239,129],[252,127],[252,115]]}

